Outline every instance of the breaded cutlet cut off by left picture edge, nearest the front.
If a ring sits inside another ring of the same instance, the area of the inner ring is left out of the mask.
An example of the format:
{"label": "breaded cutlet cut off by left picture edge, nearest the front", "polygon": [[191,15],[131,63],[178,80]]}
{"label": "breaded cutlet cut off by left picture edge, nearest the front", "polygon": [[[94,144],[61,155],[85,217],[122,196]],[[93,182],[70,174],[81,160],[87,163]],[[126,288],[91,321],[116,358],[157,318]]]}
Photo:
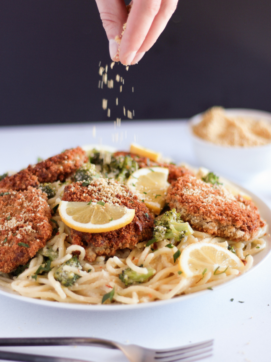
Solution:
{"label": "breaded cutlet cut off by left picture edge, nearest the front", "polygon": [[0,271],[24,265],[52,234],[51,209],[39,189],[0,189]]}

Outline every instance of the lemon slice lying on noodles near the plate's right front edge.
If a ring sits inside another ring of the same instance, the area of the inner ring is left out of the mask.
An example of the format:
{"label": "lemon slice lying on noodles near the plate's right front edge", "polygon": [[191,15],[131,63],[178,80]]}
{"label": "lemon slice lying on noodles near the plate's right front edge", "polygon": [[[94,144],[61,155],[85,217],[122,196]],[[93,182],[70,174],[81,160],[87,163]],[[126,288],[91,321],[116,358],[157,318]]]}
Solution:
{"label": "lemon slice lying on noodles near the plate's right front edge", "polygon": [[228,249],[207,241],[199,241],[184,248],[179,259],[179,267],[186,277],[193,277],[202,274],[205,269],[216,274],[226,268],[240,271],[244,264]]}

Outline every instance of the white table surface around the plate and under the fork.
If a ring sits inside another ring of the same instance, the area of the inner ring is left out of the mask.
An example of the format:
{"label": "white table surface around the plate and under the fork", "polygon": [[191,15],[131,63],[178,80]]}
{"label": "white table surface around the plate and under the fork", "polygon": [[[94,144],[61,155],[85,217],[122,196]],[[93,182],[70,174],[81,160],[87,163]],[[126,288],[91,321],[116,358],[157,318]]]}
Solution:
{"label": "white table surface around the plate and under the fork", "polygon": [[[18,171],[37,157],[66,148],[103,143],[128,149],[139,144],[162,150],[175,161],[197,165],[185,121],[113,122],[0,128],[0,174]],[[113,142],[112,135],[118,142]],[[126,136],[126,137],[125,137]],[[120,142],[121,140],[121,142]],[[243,184],[271,206],[271,171]],[[234,298],[233,302],[230,301]],[[238,300],[244,303],[238,303]],[[270,304],[270,306],[268,305]],[[44,307],[0,295],[0,337],[85,336],[169,348],[214,338],[206,362],[264,362],[271,359],[270,257],[244,278],[189,300],[128,311],[77,311]],[[90,347],[1,348],[95,362],[125,362],[121,352]]]}

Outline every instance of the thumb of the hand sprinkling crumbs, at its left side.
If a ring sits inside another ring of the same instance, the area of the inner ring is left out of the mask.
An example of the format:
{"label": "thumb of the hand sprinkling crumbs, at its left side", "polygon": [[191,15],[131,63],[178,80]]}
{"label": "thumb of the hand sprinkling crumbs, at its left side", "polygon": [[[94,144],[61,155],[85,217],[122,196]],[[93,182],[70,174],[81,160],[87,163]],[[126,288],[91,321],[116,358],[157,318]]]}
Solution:
{"label": "thumb of the hand sprinkling crumbs, at its left side", "polygon": [[112,60],[117,60],[116,55],[119,44],[115,41],[121,35],[123,24],[127,21],[128,11],[124,0],[96,0],[103,27],[109,40],[109,53]]}

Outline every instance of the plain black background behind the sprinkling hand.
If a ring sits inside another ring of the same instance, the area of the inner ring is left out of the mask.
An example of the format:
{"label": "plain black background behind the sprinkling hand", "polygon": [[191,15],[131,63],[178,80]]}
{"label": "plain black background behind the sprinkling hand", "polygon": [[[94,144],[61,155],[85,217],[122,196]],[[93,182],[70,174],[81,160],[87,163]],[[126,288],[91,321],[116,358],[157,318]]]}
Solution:
{"label": "plain black background behind the sprinkling hand", "polygon": [[116,82],[98,89],[98,64],[111,60],[94,0],[1,0],[0,124],[125,119],[123,105],[136,119],[213,105],[271,111],[270,18],[270,0],[179,1],[138,65],[109,69],[124,76],[120,94]]}

